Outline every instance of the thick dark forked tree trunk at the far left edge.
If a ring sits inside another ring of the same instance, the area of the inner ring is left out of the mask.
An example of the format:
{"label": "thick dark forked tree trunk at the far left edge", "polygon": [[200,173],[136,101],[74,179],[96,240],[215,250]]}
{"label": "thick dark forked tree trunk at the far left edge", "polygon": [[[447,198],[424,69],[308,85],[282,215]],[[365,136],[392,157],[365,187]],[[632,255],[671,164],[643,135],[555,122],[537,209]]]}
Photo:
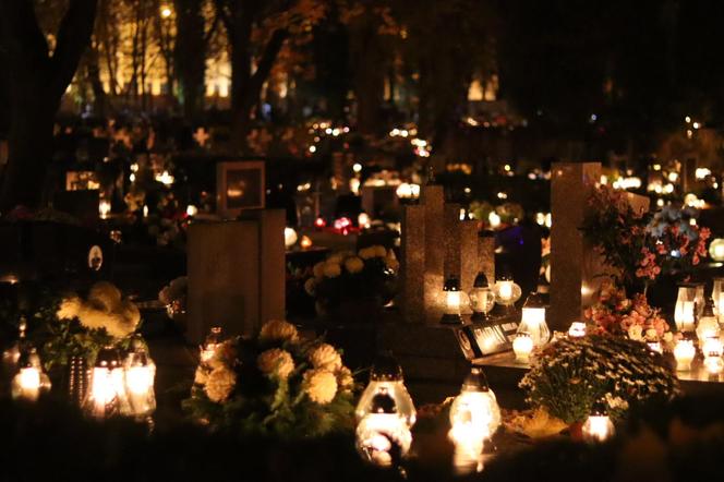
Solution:
{"label": "thick dark forked tree trunk at the far left edge", "polygon": [[0,212],[38,207],[52,156],[55,115],[90,40],[97,0],[71,0],[49,55],[32,2],[0,0],[0,44],[11,101],[9,160],[0,180]]}

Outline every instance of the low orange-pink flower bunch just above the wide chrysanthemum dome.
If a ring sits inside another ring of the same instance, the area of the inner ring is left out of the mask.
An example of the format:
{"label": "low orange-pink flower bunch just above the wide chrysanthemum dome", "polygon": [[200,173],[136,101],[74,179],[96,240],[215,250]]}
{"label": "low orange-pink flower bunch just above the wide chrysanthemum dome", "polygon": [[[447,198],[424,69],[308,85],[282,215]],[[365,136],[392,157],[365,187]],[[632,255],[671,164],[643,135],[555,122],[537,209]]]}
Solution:
{"label": "low orange-pink flower bunch just above the wide chrysanthemum dome", "polygon": [[611,279],[601,285],[599,300],[583,312],[600,335],[626,336],[635,341],[672,344],[674,335],[661,311],[649,304],[645,296],[626,297]]}

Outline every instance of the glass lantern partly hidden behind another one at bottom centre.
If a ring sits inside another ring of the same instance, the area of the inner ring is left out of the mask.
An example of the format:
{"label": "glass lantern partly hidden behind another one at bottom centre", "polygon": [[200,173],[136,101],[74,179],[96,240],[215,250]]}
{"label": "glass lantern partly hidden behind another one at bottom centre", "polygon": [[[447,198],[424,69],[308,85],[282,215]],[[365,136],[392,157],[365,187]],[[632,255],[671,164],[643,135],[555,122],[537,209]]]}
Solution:
{"label": "glass lantern partly hidden behind another one at bottom centre", "polygon": [[390,354],[377,357],[370,371],[370,383],[362,391],[360,401],[354,409],[358,423],[371,413],[375,395],[382,393],[393,398],[397,413],[405,419],[409,427],[412,427],[417,421],[414,403],[405,386],[402,367]]}

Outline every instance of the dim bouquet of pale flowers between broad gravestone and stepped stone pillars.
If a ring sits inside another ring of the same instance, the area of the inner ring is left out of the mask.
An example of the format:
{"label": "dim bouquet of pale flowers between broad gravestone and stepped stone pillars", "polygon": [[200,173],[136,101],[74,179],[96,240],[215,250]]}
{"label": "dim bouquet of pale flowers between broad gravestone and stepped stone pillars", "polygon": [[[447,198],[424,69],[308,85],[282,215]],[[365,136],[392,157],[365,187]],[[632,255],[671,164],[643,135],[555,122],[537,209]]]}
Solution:
{"label": "dim bouquet of pale flowers between broad gravestone and stepped stone pillars", "polygon": [[304,290],[315,298],[317,311],[323,313],[350,301],[382,306],[396,293],[398,269],[395,252],[381,245],[363,248],[357,254],[335,253],[314,266],[314,276],[304,282]]}

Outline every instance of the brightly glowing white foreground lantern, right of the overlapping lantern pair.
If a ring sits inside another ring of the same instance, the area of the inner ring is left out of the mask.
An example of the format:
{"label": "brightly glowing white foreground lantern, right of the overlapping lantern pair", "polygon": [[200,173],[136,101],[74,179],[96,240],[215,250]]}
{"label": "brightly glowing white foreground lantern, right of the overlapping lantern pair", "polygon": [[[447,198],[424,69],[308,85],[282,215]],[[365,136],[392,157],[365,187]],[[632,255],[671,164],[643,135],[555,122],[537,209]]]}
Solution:
{"label": "brightly glowing white foreground lantern, right of the overlapping lantern pair", "polygon": [[473,366],[450,407],[456,472],[482,469],[483,444],[500,426],[500,409],[482,369]]}

